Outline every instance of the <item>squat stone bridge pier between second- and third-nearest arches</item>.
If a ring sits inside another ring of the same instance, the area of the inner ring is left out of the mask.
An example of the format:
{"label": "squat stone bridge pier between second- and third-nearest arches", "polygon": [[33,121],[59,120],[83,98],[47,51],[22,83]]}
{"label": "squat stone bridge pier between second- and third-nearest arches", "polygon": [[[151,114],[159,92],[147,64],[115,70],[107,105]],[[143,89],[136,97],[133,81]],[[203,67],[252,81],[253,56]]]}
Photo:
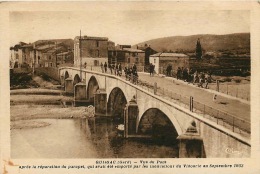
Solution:
{"label": "squat stone bridge pier between second- and third-nearest arches", "polygon": [[107,93],[104,89],[99,89],[94,94],[95,115],[107,116]]}

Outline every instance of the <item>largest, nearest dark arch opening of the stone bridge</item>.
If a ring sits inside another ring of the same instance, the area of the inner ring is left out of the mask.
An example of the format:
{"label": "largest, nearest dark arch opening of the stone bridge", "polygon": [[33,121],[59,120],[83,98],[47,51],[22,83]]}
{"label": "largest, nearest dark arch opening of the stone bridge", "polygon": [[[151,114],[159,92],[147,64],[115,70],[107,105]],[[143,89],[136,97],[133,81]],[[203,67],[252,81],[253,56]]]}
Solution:
{"label": "largest, nearest dark arch opening of the stone bridge", "polygon": [[158,108],[149,108],[143,113],[138,125],[138,134],[152,135],[164,142],[176,140],[178,136],[170,118]]}

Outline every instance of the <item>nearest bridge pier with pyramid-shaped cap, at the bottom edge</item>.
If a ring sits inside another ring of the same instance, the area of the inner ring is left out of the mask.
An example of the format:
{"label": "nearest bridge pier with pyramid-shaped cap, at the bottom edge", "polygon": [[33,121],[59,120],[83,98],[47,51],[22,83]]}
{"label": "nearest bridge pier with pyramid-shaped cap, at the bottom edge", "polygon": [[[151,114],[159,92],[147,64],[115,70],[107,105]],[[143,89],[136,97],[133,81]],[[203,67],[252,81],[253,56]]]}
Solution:
{"label": "nearest bridge pier with pyramid-shaped cap, at the bottom edge", "polygon": [[205,158],[203,139],[200,137],[195,121],[192,121],[187,131],[178,136],[179,158]]}

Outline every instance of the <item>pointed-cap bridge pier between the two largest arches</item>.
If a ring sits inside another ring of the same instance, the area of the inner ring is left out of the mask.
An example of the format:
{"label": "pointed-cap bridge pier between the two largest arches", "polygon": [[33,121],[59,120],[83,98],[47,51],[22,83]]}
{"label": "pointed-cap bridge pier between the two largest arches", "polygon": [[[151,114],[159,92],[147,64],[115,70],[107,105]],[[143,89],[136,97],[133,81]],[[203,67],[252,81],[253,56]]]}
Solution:
{"label": "pointed-cap bridge pier between the two largest arches", "polygon": [[138,105],[133,98],[126,105],[124,112],[124,137],[128,138],[131,135],[136,135],[138,129]]}

